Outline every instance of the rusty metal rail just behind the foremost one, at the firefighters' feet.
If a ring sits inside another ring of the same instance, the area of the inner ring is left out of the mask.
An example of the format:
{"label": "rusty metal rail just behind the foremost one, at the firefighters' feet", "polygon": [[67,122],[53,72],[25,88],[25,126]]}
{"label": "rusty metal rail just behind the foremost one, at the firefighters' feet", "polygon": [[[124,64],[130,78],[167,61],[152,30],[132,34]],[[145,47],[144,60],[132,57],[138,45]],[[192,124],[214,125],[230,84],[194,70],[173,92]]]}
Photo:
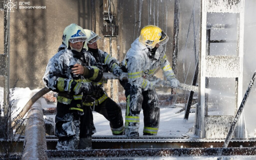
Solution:
{"label": "rusty metal rail just behind the foremost one, at the firefighters' feet", "polygon": [[[55,150],[57,137],[47,136],[47,149]],[[126,136],[92,136],[93,149],[149,149],[149,148],[219,148],[225,139],[199,139],[187,136],[140,136],[129,138]],[[234,138],[228,147],[251,147],[256,145],[255,138]]]}

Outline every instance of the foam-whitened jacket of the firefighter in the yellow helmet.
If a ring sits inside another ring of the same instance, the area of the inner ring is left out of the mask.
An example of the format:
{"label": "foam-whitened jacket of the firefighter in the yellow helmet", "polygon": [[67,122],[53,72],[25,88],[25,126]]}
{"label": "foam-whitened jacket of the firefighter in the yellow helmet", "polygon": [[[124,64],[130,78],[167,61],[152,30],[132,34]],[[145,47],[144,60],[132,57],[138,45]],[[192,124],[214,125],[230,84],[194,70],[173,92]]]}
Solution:
{"label": "foam-whitened jacket of the firefighter in the yellow helmet", "polygon": [[148,52],[148,48],[139,42],[139,38],[131,46],[132,48],[128,50],[122,61],[122,65],[126,67],[128,72],[129,83],[138,85],[144,91],[153,89],[154,83],[143,78],[142,75],[154,76],[158,67],[163,70],[167,80],[175,78],[162,45],[157,48],[155,55]]}

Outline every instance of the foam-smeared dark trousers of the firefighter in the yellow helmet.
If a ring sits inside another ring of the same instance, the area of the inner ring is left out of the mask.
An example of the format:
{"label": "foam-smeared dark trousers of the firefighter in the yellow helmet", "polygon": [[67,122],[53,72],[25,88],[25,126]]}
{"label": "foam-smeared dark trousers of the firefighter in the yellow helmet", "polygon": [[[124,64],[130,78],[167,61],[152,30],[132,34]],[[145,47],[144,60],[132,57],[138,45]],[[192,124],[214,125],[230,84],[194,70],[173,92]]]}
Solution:
{"label": "foam-smeared dark trousers of the firefighter in the yellow helmet", "polygon": [[159,128],[160,108],[155,89],[143,91],[141,87],[126,83],[125,134],[138,132],[140,111],[144,115],[144,135],[156,135]]}

